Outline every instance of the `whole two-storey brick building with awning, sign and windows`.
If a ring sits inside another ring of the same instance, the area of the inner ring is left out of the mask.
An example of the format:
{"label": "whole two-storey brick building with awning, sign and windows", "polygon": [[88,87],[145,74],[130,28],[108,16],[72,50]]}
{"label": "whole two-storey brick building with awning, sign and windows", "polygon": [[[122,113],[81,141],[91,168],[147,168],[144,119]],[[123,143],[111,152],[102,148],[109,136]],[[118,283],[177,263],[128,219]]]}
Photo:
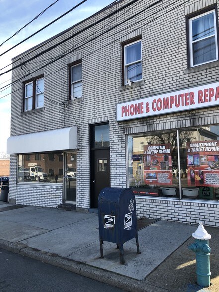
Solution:
{"label": "whole two-storey brick building with awning, sign and windows", "polygon": [[[120,0],[13,59],[9,201],[219,226],[219,0]],[[15,82],[17,81],[17,82]]]}

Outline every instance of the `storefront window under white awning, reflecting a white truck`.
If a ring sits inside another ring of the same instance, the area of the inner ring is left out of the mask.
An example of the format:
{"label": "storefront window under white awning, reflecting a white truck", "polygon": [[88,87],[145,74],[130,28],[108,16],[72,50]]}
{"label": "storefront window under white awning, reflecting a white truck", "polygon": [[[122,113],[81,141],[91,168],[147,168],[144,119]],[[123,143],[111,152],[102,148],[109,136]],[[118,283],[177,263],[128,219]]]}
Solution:
{"label": "storefront window under white awning, reflecting a white truck", "polygon": [[[63,153],[18,155],[18,182],[63,182]],[[28,158],[28,159],[27,159]]]}

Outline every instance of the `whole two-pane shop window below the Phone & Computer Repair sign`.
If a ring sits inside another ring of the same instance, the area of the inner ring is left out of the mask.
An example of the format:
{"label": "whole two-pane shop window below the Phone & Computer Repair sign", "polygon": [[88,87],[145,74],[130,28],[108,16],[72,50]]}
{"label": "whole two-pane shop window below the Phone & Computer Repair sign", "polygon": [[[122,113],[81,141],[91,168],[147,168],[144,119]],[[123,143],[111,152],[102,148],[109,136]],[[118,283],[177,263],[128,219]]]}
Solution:
{"label": "whole two-pane shop window below the Phone & Computer Repair sign", "polygon": [[128,136],[135,195],[219,200],[219,140],[209,127]]}

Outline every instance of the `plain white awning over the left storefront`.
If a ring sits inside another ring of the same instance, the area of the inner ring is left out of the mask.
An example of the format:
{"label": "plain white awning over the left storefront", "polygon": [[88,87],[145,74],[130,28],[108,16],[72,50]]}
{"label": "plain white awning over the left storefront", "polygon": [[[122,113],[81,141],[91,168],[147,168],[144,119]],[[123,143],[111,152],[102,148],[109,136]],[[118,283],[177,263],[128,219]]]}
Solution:
{"label": "plain white awning over the left storefront", "polygon": [[7,154],[39,153],[77,149],[77,127],[56,129],[7,139]]}

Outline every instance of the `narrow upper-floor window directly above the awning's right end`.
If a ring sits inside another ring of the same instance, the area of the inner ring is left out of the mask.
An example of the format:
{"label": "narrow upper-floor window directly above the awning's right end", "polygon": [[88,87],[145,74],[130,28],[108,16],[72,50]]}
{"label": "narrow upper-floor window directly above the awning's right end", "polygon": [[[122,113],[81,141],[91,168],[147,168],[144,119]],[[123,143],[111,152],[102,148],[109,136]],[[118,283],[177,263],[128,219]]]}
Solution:
{"label": "narrow upper-floor window directly above the awning's right end", "polygon": [[71,66],[71,99],[82,97],[82,64]]}

